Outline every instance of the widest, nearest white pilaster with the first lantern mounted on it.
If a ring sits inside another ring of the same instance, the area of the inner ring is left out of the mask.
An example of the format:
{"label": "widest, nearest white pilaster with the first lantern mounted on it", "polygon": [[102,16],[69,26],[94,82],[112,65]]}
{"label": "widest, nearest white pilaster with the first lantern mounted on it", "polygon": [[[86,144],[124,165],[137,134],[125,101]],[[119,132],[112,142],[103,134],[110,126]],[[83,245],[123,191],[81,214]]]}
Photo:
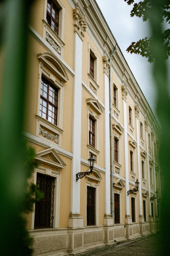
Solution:
{"label": "widest, nearest white pilaster with the first lantern mounted on it", "polygon": [[[74,33],[74,71],[70,223],[80,215],[80,180],[76,181],[76,173],[80,172],[81,161],[82,39],[77,32]],[[82,225],[81,220],[76,222],[76,226]],[[74,223],[70,223],[75,227]]]}

